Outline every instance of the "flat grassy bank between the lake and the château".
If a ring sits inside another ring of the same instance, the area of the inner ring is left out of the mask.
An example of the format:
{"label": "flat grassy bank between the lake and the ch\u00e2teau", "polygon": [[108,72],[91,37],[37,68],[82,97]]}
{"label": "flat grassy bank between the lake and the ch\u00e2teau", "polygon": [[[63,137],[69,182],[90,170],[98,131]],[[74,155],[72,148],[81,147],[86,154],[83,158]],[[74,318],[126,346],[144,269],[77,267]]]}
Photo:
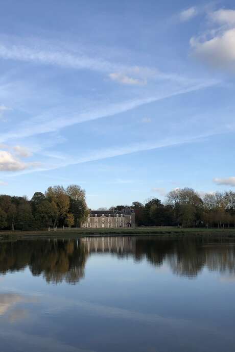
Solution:
{"label": "flat grassy bank between the lake and the ch\u00e2teau", "polygon": [[77,238],[86,236],[138,236],[138,235],[165,235],[186,236],[206,235],[235,237],[235,229],[179,229],[173,227],[140,227],[129,229],[58,229],[57,231],[1,231],[0,239],[26,238]]}

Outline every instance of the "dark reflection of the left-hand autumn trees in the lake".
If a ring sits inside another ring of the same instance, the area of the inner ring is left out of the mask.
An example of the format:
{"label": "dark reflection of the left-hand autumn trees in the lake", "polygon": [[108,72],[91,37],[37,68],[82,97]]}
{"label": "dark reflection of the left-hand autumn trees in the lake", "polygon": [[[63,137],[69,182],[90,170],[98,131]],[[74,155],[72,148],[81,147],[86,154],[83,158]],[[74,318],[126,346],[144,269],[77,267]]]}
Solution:
{"label": "dark reflection of the left-hand autumn trees in the lake", "polygon": [[76,284],[84,277],[87,254],[79,241],[17,241],[0,248],[0,273],[29,266],[48,283]]}

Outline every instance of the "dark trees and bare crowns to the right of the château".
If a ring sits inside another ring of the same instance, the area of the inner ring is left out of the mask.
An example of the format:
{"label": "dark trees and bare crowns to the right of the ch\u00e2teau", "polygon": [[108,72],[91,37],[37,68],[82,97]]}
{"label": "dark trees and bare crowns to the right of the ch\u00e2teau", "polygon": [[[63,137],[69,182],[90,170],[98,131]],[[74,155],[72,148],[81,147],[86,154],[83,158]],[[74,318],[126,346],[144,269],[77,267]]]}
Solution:
{"label": "dark trees and bare crowns to the right of the ch\u00e2teau", "polygon": [[164,204],[152,198],[145,204],[133,202],[132,208],[137,226],[235,227],[235,192],[232,191],[200,196],[192,188],[179,188],[167,194]]}

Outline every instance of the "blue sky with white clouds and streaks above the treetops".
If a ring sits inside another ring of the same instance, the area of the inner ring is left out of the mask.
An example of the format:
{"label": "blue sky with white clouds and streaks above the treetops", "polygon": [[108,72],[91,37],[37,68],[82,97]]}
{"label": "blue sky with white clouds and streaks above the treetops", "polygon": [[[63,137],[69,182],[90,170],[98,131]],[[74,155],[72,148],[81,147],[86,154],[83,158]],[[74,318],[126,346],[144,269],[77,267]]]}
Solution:
{"label": "blue sky with white clouds and streaks above the treetops", "polygon": [[0,6],[0,194],[234,190],[234,1]]}

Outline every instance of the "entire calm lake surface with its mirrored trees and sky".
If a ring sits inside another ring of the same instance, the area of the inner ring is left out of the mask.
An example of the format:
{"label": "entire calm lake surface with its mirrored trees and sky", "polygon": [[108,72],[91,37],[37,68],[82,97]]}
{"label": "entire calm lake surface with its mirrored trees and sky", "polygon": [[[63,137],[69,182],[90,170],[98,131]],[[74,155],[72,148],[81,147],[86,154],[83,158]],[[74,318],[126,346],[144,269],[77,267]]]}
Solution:
{"label": "entire calm lake surface with its mirrored trees and sky", "polygon": [[0,242],[1,352],[234,352],[235,242]]}

